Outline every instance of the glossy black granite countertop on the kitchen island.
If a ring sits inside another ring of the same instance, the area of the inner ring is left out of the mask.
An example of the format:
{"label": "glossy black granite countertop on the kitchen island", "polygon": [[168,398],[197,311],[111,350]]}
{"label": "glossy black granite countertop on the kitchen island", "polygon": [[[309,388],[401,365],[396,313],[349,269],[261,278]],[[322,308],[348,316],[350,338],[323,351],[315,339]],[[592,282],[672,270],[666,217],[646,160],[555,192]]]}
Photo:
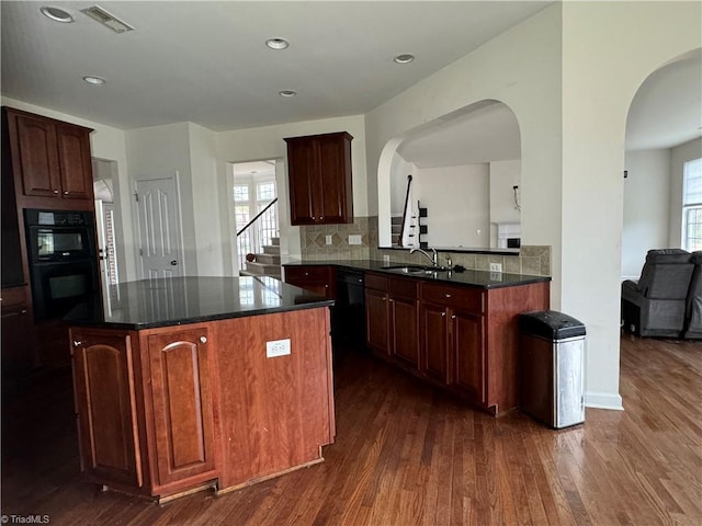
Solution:
{"label": "glossy black granite countertop on the kitchen island", "polygon": [[64,322],[140,330],[333,305],[271,277],[143,279],[122,283],[107,296],[75,307]]}

